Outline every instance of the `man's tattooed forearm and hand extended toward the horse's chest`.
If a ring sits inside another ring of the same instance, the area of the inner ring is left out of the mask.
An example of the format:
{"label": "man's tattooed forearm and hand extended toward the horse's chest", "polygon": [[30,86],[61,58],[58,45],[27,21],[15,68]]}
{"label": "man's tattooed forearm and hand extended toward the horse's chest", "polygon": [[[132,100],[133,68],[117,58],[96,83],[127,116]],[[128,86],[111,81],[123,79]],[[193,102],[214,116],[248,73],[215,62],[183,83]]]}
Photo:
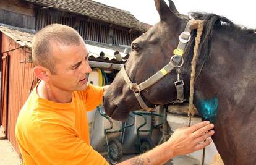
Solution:
{"label": "man's tattooed forearm and hand extended toward the horse's chest", "polygon": [[213,124],[200,122],[189,128],[177,129],[167,142],[156,146],[153,150],[135,158],[123,161],[121,164],[164,164],[174,156],[188,154],[200,150],[211,143],[205,139],[214,134]]}

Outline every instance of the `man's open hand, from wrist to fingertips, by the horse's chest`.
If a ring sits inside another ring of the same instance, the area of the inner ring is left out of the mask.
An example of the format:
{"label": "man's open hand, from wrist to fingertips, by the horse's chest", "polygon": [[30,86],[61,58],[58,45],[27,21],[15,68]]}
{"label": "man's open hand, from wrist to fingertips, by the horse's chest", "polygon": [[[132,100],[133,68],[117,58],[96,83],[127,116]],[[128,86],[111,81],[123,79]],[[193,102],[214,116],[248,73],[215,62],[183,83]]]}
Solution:
{"label": "man's open hand, from wrist to fingertips, by the horse's chest", "polygon": [[[173,151],[173,156],[188,154],[205,148],[211,143],[210,139],[206,139],[214,134],[214,130],[211,130],[213,127],[214,125],[210,124],[209,121],[204,121],[191,127],[177,129],[167,142],[170,150]],[[204,140],[206,141],[204,142]]]}

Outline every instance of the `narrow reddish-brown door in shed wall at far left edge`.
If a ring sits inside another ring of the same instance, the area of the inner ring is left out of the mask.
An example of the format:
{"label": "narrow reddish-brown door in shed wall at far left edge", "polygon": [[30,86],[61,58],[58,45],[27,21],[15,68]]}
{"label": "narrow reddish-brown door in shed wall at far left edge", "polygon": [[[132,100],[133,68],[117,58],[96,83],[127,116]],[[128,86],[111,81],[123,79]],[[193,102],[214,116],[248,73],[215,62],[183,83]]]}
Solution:
{"label": "narrow reddish-brown door in shed wall at far left edge", "polygon": [[0,138],[7,138],[7,103],[8,103],[8,75],[9,75],[9,56],[4,54],[2,56],[2,68],[1,68],[1,116],[0,116]]}

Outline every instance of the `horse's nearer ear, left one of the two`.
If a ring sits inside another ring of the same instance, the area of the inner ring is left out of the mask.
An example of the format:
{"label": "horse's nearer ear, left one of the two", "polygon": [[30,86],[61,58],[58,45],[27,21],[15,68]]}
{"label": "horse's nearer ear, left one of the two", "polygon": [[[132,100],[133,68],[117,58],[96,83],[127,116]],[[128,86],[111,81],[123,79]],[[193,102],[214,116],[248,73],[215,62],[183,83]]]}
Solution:
{"label": "horse's nearer ear, left one of the two", "polygon": [[155,0],[155,6],[161,20],[167,20],[176,17],[174,12],[169,9],[164,0]]}

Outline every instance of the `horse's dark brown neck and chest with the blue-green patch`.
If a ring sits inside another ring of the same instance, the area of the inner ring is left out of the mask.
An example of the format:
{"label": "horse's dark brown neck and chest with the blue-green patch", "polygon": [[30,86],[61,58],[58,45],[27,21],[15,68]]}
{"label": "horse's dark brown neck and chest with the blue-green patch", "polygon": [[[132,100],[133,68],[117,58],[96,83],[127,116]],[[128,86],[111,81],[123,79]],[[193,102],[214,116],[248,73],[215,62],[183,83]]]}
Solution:
{"label": "horse's dark brown neck and chest with the blue-green patch", "polygon": [[195,82],[194,103],[202,108],[198,111],[216,112],[211,118],[216,130],[213,140],[224,163],[250,164],[255,158],[248,158],[248,153],[255,155],[256,144],[255,43],[252,48],[237,43],[234,38],[213,35],[210,59]]}

